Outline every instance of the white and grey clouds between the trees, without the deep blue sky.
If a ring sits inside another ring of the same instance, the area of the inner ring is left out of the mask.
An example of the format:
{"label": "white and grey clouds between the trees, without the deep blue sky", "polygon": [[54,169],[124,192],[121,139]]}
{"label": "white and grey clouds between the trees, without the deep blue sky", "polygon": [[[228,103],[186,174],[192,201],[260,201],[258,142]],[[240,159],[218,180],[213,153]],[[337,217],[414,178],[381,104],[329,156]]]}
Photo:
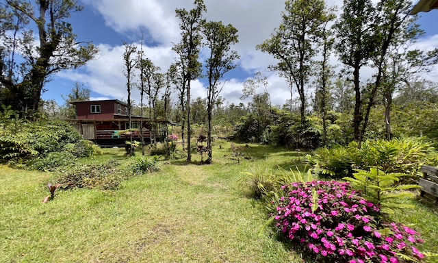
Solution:
{"label": "white and grey clouds between the trees, without the deep blue sky", "polygon": [[[83,0],[86,5],[92,6],[105,19],[106,25],[117,32],[135,38],[141,38],[146,29],[152,42],[157,47],[146,47],[146,57],[150,58],[155,65],[166,71],[174,61],[175,53],[171,50],[172,42],[179,42],[179,21],[175,18],[175,8],[190,9],[193,7],[192,0]],[[254,1],[254,0],[205,0],[207,5],[207,20],[222,21],[224,24],[231,23],[238,29],[240,42],[234,49],[241,56],[240,67],[246,71],[246,75],[240,78],[227,80],[224,84],[222,97],[229,103],[240,103],[242,96],[242,84],[255,72],[262,71],[268,77],[268,91],[274,105],[283,105],[290,99],[289,88],[285,79],[278,74],[268,71],[270,64],[276,61],[271,55],[257,51],[255,46],[270,37],[273,29],[281,23],[281,11],[284,9],[283,0]],[[329,0],[326,5],[337,5],[340,9],[342,0]],[[437,47],[438,35],[432,38],[422,39],[418,42],[424,49]],[[138,45],[138,43],[137,43]],[[102,97],[126,99],[126,79],[123,75],[123,46],[111,47],[100,45],[101,56],[97,60],[89,62],[80,71],[66,71],[58,76],[82,82]],[[333,62],[339,64],[339,62]],[[438,80],[438,68],[434,73]],[[363,77],[371,75],[366,71]],[[261,90],[260,92],[263,92]],[[294,98],[296,97],[294,92]],[[205,97],[205,86],[199,81],[192,83],[192,98]],[[140,101],[138,92],[133,92],[133,99]]]}

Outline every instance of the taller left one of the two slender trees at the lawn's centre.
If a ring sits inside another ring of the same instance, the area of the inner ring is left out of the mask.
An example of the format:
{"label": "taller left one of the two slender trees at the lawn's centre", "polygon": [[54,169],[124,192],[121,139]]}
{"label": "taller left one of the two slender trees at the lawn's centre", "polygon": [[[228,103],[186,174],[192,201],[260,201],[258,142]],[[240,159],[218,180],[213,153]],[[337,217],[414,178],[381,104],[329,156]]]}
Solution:
{"label": "taller left one of the two slender trees at the lawn's centre", "polygon": [[201,63],[198,61],[201,51],[201,26],[203,21],[203,12],[207,12],[203,0],[195,0],[195,8],[192,10],[177,9],[175,10],[177,18],[179,18],[179,28],[181,29],[181,42],[173,47],[177,52],[177,58],[181,65],[181,75],[183,77],[183,86],[185,87],[186,114],[187,114],[187,162],[192,162],[191,149],[191,132],[190,132],[190,82],[201,75]]}

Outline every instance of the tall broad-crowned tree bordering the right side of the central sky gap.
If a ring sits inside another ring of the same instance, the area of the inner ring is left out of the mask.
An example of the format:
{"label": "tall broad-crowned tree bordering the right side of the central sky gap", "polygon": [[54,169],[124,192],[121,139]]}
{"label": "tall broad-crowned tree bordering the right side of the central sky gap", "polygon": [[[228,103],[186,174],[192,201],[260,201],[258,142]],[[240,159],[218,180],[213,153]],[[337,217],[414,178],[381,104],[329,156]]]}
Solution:
{"label": "tall broad-crowned tree bordering the right side of the central sky gap", "polygon": [[278,59],[279,63],[271,67],[296,86],[301,103],[301,124],[305,125],[305,88],[312,74],[317,54],[315,43],[324,25],[326,6],[324,0],[288,0],[285,5],[281,25],[274,29],[272,38],[257,48]]}

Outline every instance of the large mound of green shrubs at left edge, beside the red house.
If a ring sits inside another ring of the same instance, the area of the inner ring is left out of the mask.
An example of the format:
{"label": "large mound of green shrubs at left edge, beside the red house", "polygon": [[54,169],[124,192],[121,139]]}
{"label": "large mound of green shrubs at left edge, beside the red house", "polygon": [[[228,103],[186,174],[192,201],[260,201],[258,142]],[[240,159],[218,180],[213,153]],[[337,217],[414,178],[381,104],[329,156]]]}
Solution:
{"label": "large mound of green shrubs at left edge, beside the red house", "polygon": [[[12,164],[26,164],[41,170],[52,170],[56,164],[66,164],[62,154],[65,151],[74,157],[86,157],[99,154],[100,149],[93,142],[83,140],[80,134],[68,123],[62,121],[28,122],[12,118],[5,111],[1,115],[0,161]],[[68,155],[68,156],[70,156]],[[38,161],[35,160],[38,158]],[[34,162],[31,162],[35,160]],[[42,167],[46,163],[47,168]]]}

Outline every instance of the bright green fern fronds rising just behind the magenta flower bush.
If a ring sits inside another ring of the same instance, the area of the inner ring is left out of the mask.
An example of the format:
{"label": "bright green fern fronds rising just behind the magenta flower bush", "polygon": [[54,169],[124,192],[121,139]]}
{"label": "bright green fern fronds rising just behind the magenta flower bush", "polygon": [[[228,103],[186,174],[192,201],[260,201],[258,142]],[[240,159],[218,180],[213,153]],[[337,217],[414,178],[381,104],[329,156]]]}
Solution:
{"label": "bright green fern fronds rising just behind the magenta flower bush", "polygon": [[416,184],[396,185],[401,177],[409,176],[403,173],[385,173],[377,168],[370,171],[356,170],[353,177],[344,177],[351,186],[361,191],[361,195],[368,201],[381,205],[382,212],[394,214],[394,210],[413,208],[402,201],[406,197],[412,198],[413,192],[406,190],[421,188]]}

